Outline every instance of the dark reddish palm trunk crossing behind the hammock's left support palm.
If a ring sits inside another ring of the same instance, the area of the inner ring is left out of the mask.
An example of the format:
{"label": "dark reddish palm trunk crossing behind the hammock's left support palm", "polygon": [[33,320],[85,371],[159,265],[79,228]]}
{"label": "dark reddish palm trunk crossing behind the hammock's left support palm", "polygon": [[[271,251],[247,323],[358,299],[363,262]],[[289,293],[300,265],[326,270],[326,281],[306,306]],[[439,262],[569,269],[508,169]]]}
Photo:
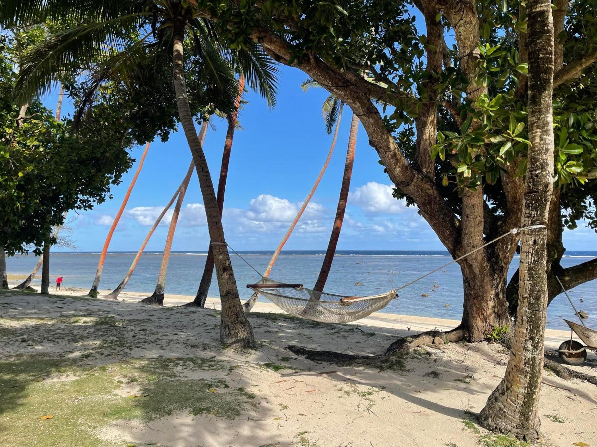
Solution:
{"label": "dark reddish palm trunk crossing behind the hammock's left support palm", "polygon": [[[228,166],[230,164],[230,154],[232,153],[232,140],[234,138],[234,131],[236,130],[236,119],[238,118],[238,108],[241,105],[242,93],[245,89],[245,76],[239,76],[238,79],[238,96],[236,97],[235,111],[229,114],[226,118],[228,120],[228,129],[226,131],[226,141],[224,142],[224,150],[222,152],[222,162],[220,166],[220,179],[218,181],[217,202],[220,210],[220,215],[224,209],[224,193],[226,193],[226,180],[228,178]],[[207,292],[210,290],[211,278],[214,275],[214,252],[211,249],[211,244],[207,248],[207,258],[205,259],[205,267],[201,281],[199,281],[199,288],[195,299],[189,305],[205,307],[205,300],[207,299]]]}

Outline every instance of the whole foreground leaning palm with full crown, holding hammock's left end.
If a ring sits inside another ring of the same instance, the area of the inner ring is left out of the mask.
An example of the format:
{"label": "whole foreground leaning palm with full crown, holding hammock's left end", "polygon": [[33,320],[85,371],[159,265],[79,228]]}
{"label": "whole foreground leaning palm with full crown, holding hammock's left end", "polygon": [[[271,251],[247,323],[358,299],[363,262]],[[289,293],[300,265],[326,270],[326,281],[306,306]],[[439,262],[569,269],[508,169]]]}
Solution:
{"label": "whole foreground leaning palm with full crown, holding hammock's left end", "polygon": [[[60,73],[79,73],[81,67],[90,70],[91,84],[96,88],[105,79],[130,85],[137,67],[144,61],[147,46],[158,52],[162,59],[170,52],[179,120],[199,178],[216,263],[222,305],[220,340],[232,347],[254,346],[253,331],[239,299],[207,160],[193,123],[184,78],[184,42],[188,36],[195,44],[196,60],[209,62],[204,63],[204,69],[213,73],[219,87],[235,83],[232,68],[222,58],[222,54],[226,54],[230,55],[229,61],[239,67],[239,72],[245,74],[249,83],[254,83],[261,92],[271,96],[275,91],[272,60],[257,44],[225,51],[217,43],[208,19],[196,14],[193,2],[5,0],[3,4],[0,24],[4,26],[36,20],[83,23],[50,36],[27,53],[27,61],[17,81],[19,98],[23,103],[35,92],[45,91],[49,84],[58,80]],[[131,34],[136,36],[132,44]],[[109,51],[98,64],[97,55],[105,48],[113,51]]]}

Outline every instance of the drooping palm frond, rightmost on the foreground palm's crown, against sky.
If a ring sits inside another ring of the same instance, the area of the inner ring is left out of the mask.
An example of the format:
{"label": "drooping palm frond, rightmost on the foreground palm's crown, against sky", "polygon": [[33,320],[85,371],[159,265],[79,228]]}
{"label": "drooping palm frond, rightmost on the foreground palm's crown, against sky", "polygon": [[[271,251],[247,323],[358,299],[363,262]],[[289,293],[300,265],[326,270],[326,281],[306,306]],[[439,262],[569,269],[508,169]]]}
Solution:
{"label": "drooping palm frond, rightmost on the foreground palm's crown, against sky", "polygon": [[278,67],[259,44],[239,49],[233,55],[236,70],[245,75],[247,85],[265,98],[269,107],[275,107],[278,94]]}

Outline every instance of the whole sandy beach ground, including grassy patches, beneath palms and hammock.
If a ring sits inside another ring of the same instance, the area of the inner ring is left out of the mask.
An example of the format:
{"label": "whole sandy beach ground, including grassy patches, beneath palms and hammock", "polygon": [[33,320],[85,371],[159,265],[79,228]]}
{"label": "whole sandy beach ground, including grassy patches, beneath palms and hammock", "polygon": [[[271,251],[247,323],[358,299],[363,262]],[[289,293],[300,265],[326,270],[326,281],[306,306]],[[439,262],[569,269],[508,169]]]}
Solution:
{"label": "whole sandy beach ground, including grassy patches, beneath palms and hammock", "polygon": [[[396,337],[458,321],[374,313],[319,324],[257,303],[256,350],[219,344],[219,300],[165,308],[60,296],[0,294],[0,432],[5,446],[517,446],[475,422],[504,374],[496,343],[425,347],[390,368],[338,367],[285,349],[381,352]],[[143,296],[145,296],[143,294]],[[546,350],[567,339],[547,330]],[[597,375],[597,358],[583,366]],[[594,385],[543,375],[547,446],[597,446]],[[45,415],[52,418],[41,420]],[[509,443],[507,443],[509,442]]]}

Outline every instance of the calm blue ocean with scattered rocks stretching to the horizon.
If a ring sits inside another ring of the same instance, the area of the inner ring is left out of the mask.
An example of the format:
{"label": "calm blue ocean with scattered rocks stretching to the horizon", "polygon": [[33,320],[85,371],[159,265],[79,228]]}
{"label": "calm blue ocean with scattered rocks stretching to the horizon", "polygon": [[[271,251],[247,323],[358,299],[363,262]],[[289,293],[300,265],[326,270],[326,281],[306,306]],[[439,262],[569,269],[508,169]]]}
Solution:
{"label": "calm blue ocean with scattered rocks stretching to the horizon", "polygon": [[[124,277],[135,254],[109,252],[106,256],[100,288],[116,287]],[[239,254],[262,272],[272,252],[239,252]],[[172,252],[168,265],[166,293],[195,296],[205,265],[205,256],[205,252]],[[270,277],[285,283],[300,283],[305,287],[313,287],[323,256],[324,252],[282,252]],[[566,268],[596,256],[597,252],[594,251],[569,251],[562,259],[562,266]],[[236,254],[230,253],[230,257],[241,299],[248,299],[251,291],[246,285],[256,283],[260,278]],[[63,276],[64,287],[89,288],[93,283],[98,259],[97,252],[52,253],[51,281],[58,276]],[[161,260],[161,252],[144,253],[125,290],[145,292],[149,296],[155,288]],[[398,288],[450,260],[451,257],[447,252],[440,251],[338,251],[334,257],[325,291],[349,296],[378,294]],[[36,257],[31,254],[10,257],[7,259],[8,272],[26,275],[32,271],[35,263]],[[509,277],[514,274],[516,268],[518,268],[518,256],[515,256],[512,261]],[[382,312],[460,319],[463,301],[460,268],[453,263],[442,270],[444,271],[436,272],[399,291],[399,298],[390,302]],[[439,287],[433,287],[434,285]],[[570,297],[577,309],[589,313],[589,318],[585,320],[589,327],[597,327],[596,285],[597,280],[590,281],[570,291]],[[33,287],[39,287],[39,280],[33,281]],[[429,296],[423,297],[422,294]],[[215,274],[209,296],[218,296]],[[260,300],[264,299],[260,298]],[[556,297],[547,309],[547,327],[568,329],[562,318],[576,321],[574,311],[563,293]]]}

